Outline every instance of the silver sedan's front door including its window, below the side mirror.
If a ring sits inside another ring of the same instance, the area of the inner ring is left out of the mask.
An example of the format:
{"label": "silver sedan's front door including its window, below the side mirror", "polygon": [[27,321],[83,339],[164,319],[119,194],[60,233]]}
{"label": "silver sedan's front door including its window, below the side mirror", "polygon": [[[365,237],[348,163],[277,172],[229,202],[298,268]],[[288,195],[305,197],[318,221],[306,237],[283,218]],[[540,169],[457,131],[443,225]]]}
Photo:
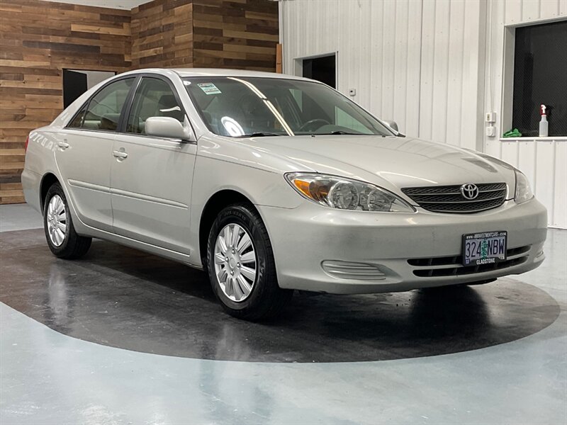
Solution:
{"label": "silver sedan's front door including its window, below the side mirror", "polygon": [[114,142],[111,200],[116,234],[189,254],[196,143],[145,134],[147,118],[185,115],[169,79],[142,77]]}

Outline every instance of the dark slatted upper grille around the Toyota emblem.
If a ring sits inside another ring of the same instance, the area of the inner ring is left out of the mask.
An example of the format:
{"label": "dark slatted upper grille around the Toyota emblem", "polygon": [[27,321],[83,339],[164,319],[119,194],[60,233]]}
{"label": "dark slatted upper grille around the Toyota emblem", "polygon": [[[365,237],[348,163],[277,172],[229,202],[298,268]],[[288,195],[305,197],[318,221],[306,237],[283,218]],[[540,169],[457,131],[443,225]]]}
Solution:
{"label": "dark slatted upper grille around the Toyota emblem", "polygon": [[478,196],[467,200],[461,186],[403,188],[402,192],[428,211],[466,214],[499,207],[506,199],[506,183],[479,183]]}

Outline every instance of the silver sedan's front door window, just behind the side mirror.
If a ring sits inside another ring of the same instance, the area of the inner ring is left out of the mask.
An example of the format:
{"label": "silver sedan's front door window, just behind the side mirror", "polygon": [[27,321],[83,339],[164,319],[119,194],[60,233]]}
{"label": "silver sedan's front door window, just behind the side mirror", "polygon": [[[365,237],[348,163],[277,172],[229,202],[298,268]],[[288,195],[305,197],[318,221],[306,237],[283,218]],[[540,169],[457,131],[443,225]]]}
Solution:
{"label": "silver sedan's front door window, just behind the side mirror", "polygon": [[183,123],[185,113],[167,82],[144,77],[134,96],[126,131],[144,135],[150,117],[172,117]]}

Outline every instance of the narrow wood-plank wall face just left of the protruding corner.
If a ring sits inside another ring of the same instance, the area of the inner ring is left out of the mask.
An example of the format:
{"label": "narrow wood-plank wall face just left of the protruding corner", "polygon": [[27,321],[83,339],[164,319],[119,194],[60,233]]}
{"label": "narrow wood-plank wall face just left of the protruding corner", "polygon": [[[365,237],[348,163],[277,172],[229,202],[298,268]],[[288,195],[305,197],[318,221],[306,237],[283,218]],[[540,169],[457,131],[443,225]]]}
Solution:
{"label": "narrow wood-plank wall face just left of the protruding corner", "polygon": [[191,0],[155,0],[132,9],[132,67],[191,67]]}

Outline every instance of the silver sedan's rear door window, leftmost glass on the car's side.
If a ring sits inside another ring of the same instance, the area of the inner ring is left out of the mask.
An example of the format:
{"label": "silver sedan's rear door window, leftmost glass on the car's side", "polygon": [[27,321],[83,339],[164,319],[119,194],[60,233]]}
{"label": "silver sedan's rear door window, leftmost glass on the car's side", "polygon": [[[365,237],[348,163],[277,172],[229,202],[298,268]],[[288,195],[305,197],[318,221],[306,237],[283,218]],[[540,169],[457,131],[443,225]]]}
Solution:
{"label": "silver sedan's rear door window, leftmost glass on the car's side", "polygon": [[134,78],[121,79],[104,87],[91,98],[69,123],[69,128],[116,131],[120,112],[134,83]]}

